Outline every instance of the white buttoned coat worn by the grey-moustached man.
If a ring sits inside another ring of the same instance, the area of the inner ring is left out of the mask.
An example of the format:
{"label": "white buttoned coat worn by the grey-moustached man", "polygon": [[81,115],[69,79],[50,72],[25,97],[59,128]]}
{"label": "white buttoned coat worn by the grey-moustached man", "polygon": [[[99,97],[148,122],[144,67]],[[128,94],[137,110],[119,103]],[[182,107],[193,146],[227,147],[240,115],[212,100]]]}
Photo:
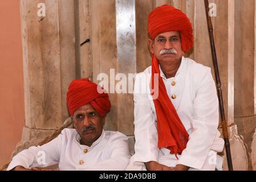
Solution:
{"label": "white buttoned coat worn by the grey-moustached man", "polygon": [[[161,69],[160,69],[161,71]],[[157,147],[156,111],[149,93],[151,67],[137,74],[134,88],[135,155],[127,170],[145,169],[145,162],[156,161],[169,167],[183,164],[190,169],[221,169],[217,155],[224,148],[218,131],[218,97],[210,68],[182,57],[176,76],[166,79],[161,71],[166,91],[189,134],[182,152],[171,155],[166,148]],[[173,86],[171,83],[176,82]],[[145,92],[147,90],[147,92]],[[176,95],[173,99],[172,95]]]}

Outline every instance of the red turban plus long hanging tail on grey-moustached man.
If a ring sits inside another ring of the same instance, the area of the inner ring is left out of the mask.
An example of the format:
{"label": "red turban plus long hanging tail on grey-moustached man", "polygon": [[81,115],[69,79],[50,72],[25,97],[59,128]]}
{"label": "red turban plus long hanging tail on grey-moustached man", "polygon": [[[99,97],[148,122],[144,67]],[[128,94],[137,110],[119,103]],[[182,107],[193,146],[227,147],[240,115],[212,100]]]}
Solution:
{"label": "red turban plus long hanging tail on grey-moustached man", "polygon": [[[157,35],[168,31],[180,31],[184,52],[192,47],[193,30],[187,16],[172,6],[163,5],[149,14],[148,33],[153,40]],[[189,135],[166,92],[164,81],[160,77],[159,60],[156,59],[155,54],[152,54],[152,90],[154,90],[156,73],[158,73],[159,97],[153,102],[156,108],[158,147],[168,148],[170,154],[175,154],[177,157],[177,154],[181,154],[186,148]]]}

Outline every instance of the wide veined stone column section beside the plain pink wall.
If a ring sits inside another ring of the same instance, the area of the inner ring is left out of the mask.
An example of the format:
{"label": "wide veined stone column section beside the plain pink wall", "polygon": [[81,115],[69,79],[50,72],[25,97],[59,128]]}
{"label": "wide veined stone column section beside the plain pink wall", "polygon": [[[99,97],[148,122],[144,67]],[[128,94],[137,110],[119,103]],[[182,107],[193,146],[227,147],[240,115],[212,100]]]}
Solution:
{"label": "wide veined stone column section beside the plain pink wall", "polygon": [[[38,16],[38,4],[46,16]],[[21,1],[26,121],[14,154],[36,144],[68,118],[66,92],[75,78],[72,0]]]}

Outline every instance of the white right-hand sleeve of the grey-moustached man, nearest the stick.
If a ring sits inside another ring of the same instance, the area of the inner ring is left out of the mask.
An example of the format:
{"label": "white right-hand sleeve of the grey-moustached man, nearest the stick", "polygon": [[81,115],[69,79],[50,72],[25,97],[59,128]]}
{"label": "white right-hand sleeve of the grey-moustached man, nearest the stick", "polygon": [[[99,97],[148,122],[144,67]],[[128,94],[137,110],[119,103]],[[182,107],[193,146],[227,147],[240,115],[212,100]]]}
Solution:
{"label": "white right-hand sleeve of the grey-moustached man, nearest the stick", "polygon": [[194,99],[194,116],[190,120],[192,133],[178,160],[178,164],[201,169],[214,139],[218,135],[218,97],[212,73],[208,68],[197,80],[196,98]]}

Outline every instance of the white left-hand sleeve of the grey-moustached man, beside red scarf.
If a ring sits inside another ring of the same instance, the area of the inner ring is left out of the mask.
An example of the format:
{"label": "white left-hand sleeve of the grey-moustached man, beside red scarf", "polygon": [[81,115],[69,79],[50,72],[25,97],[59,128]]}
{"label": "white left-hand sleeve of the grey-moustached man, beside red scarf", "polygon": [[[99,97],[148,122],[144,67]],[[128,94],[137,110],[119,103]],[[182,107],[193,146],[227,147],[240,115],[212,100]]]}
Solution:
{"label": "white left-hand sleeve of the grey-moustached man, beside red scarf", "polygon": [[[149,76],[150,77],[150,76]],[[134,125],[135,125],[135,156],[134,162],[158,162],[159,148],[156,117],[151,108],[148,94],[147,74],[136,76],[133,90]]]}

